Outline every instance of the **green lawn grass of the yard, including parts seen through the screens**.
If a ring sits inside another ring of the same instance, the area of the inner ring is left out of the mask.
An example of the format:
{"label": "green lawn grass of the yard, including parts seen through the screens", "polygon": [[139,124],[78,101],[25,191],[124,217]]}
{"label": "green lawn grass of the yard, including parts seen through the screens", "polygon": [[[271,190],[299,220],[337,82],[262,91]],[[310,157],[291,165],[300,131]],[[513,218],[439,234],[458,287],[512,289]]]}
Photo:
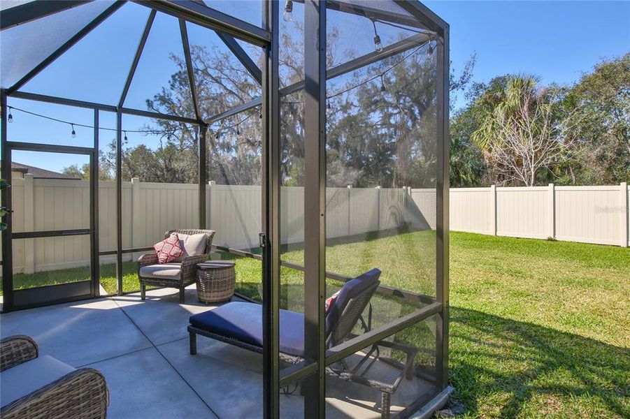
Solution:
{"label": "green lawn grass of the yard, including parts seen through the screens", "polygon": [[[331,244],[327,269],[353,275],[378,266],[384,284],[434,295],[434,235],[366,239]],[[301,263],[303,252],[283,259]],[[236,267],[238,291],[259,299],[259,261],[239,258]],[[55,280],[80,277],[63,272]],[[137,290],[135,263],[124,272],[124,290]],[[101,265],[108,292],[114,274],[113,265]],[[38,282],[38,274],[15,277]],[[282,267],[282,307],[301,307],[302,281],[301,272]],[[338,286],[329,281],[328,293]],[[375,298],[377,323],[413,309]],[[452,400],[463,418],[630,417],[629,249],[454,232],[450,304]],[[396,338],[429,347],[434,328],[429,319]]]}

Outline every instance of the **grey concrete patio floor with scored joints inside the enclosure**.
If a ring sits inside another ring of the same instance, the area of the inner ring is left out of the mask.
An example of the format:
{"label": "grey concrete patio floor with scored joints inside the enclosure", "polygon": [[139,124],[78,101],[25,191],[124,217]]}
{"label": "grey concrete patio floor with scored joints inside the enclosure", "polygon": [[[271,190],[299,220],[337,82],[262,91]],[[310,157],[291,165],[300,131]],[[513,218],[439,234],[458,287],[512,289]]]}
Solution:
{"label": "grey concrete patio floor with scored joints inside the enclosure", "polygon": [[[29,335],[41,355],[74,367],[90,366],[106,377],[109,418],[262,418],[262,355],[198,337],[189,355],[188,318],[213,309],[196,299],[186,304],[174,289],[59,304],[0,316],[0,335]],[[392,375],[378,362],[375,372]],[[403,380],[392,397],[392,413],[430,386]],[[380,392],[327,378],[327,418],[380,418]],[[281,416],[303,416],[299,389],[280,395]]]}

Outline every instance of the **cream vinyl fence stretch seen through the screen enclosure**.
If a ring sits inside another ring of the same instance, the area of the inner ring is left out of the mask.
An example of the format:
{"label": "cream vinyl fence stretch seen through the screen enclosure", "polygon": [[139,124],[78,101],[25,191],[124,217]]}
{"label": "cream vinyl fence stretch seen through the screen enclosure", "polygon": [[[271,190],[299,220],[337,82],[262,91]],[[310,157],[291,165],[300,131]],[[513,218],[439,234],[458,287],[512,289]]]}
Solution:
{"label": "cream vinyl fence stretch seen through the screen enclosure", "polygon": [[[327,237],[345,237],[411,225],[428,229],[410,198],[410,189],[327,189]],[[14,178],[13,232],[71,230],[90,226],[90,185],[73,179]],[[281,242],[299,243],[304,232],[303,188],[281,189]],[[435,196],[435,191],[433,197]],[[435,198],[432,198],[433,202]],[[262,230],[260,186],[227,186],[210,182],[206,189],[206,225],[216,230],[214,244],[250,249]],[[434,205],[434,203],[432,204]],[[431,214],[434,217],[435,211]],[[150,247],[173,228],[199,223],[199,186],[132,179],[122,183],[122,247]],[[99,250],[116,249],[115,182],[99,182]],[[86,265],[88,235],[13,240],[16,273],[31,273]],[[141,253],[125,253],[132,260]],[[101,256],[113,263],[115,256]]]}

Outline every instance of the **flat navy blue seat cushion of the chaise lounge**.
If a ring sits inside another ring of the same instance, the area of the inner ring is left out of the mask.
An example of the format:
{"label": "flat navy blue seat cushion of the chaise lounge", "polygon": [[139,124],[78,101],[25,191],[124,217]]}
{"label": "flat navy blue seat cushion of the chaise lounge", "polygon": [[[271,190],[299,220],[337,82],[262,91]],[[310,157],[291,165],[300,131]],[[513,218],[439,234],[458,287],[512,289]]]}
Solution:
{"label": "flat navy blue seat cushion of the chaise lounge", "polygon": [[[215,335],[262,347],[262,305],[229,302],[190,317],[190,324]],[[304,354],[304,315],[280,310],[280,351],[294,356]]]}

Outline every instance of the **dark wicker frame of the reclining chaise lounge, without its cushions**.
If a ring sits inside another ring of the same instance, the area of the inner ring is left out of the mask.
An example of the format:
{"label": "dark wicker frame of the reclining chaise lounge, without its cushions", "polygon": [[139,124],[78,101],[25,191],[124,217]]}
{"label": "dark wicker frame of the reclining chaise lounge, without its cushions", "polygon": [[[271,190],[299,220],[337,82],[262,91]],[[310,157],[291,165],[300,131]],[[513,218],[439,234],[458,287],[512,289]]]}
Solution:
{"label": "dark wicker frame of the reclining chaise lounge, without its cushions", "polygon": [[[343,341],[347,339],[352,339],[353,337],[356,337],[357,335],[352,334],[352,330],[355,328],[357,323],[364,332],[369,332],[371,330],[372,306],[370,300],[372,295],[375,293],[376,288],[378,288],[379,284],[380,281],[375,281],[375,284],[366,288],[364,291],[361,291],[359,295],[356,295],[348,301],[348,304],[345,306],[343,312],[341,313],[341,316],[339,317],[336,328],[334,328],[334,330],[327,331],[328,348],[332,348],[333,346],[343,343]],[[364,318],[364,311],[366,311],[366,309],[367,321]],[[224,343],[237,346],[248,351],[263,353],[262,346],[250,344],[234,337],[209,332],[208,330],[197,328],[193,325],[188,326],[188,332],[189,350],[191,355],[196,355],[197,353],[196,335],[209,337],[210,339],[222,341]],[[397,351],[402,351],[406,354],[406,361],[402,363],[393,360],[392,358],[383,357],[382,355],[380,355],[380,348],[391,348]],[[345,362],[344,359],[334,365],[326,367],[326,373],[330,376],[336,376],[337,378],[341,378],[345,381],[352,381],[354,383],[359,383],[370,388],[379,390],[381,392],[381,418],[387,419],[390,417],[392,394],[394,394],[394,392],[396,392],[396,390],[398,389],[403,376],[408,380],[413,378],[413,360],[415,359],[418,351],[419,349],[415,348],[414,346],[399,344],[397,342],[385,340],[378,341],[375,344],[371,345],[368,351],[366,351],[365,353],[361,353],[361,359],[354,367],[350,367],[350,365],[348,365],[348,362]],[[303,358],[299,356],[283,353],[282,351],[280,351],[279,356],[280,360],[290,364],[296,364],[297,362],[301,362],[303,360]],[[371,369],[371,367],[375,365],[375,362],[377,360],[380,360],[387,363],[387,365],[400,369],[401,373],[396,376],[393,382],[385,382],[378,379],[366,377],[366,374]]]}

